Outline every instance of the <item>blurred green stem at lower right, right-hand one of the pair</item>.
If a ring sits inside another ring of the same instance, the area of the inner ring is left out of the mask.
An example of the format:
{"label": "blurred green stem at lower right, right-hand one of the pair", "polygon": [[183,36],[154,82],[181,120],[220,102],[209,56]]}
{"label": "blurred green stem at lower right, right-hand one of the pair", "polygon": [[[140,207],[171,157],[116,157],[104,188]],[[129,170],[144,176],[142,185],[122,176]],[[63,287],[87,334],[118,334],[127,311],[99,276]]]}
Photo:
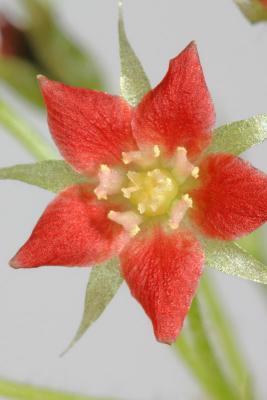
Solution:
{"label": "blurred green stem at lower right, right-hand one of the pair", "polygon": [[249,371],[243,357],[238,351],[238,345],[232,335],[230,323],[222,310],[218,296],[208,276],[203,276],[200,286],[200,296],[203,298],[209,316],[212,322],[212,330],[216,332],[220,341],[223,354],[230,368],[230,376],[235,381],[237,387],[246,386],[246,397],[242,399],[252,399],[252,388],[249,378]]}

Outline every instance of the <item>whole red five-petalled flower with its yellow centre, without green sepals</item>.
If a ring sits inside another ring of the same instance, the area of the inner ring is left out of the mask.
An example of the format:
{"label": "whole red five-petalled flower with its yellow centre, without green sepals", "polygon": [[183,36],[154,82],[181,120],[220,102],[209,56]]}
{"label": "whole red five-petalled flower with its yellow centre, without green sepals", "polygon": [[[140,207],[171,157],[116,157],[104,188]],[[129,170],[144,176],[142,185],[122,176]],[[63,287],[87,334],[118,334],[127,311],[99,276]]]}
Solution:
{"label": "whole red five-petalled flower with its yellow centre, without green sepals", "polygon": [[173,342],[203,269],[196,235],[232,240],[264,223],[266,175],[230,154],[205,155],[215,118],[193,43],[136,108],[45,77],[40,83],[57,146],[95,182],[60,193],[11,265],[84,266],[119,256],[157,339]]}

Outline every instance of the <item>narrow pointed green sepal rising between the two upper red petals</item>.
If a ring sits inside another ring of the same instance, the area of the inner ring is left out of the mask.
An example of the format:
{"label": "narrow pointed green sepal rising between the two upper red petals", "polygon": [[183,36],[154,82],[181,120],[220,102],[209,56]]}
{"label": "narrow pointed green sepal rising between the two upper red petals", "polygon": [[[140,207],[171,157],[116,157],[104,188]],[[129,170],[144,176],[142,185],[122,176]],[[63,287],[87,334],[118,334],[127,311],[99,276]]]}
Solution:
{"label": "narrow pointed green sepal rising between the two upper red petals", "polygon": [[121,60],[120,91],[121,96],[132,106],[136,106],[150,90],[149,80],[135,55],[125,33],[122,1],[119,1],[119,45]]}

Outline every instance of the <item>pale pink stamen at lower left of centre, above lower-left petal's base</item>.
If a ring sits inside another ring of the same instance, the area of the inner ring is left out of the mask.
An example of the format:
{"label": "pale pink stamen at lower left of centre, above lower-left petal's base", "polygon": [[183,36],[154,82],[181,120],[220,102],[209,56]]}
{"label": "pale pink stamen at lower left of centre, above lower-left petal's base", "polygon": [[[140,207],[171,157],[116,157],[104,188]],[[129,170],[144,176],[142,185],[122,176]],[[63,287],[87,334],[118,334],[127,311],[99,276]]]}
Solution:
{"label": "pale pink stamen at lower left of centre, above lower-left petal's base", "polygon": [[139,231],[139,225],[142,223],[142,217],[133,211],[110,211],[108,213],[108,218],[111,221],[122,225],[123,228],[130,234],[130,236],[135,236]]}

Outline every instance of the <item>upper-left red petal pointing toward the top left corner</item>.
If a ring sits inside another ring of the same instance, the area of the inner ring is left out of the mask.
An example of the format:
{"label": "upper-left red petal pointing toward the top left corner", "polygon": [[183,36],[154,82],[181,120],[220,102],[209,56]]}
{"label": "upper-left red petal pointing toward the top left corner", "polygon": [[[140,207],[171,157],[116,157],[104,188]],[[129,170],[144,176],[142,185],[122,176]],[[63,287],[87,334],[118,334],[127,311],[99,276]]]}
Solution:
{"label": "upper-left red petal pointing toward the top left corner", "polygon": [[63,157],[81,172],[118,164],[136,148],[132,109],[118,96],[40,78],[48,123]]}

